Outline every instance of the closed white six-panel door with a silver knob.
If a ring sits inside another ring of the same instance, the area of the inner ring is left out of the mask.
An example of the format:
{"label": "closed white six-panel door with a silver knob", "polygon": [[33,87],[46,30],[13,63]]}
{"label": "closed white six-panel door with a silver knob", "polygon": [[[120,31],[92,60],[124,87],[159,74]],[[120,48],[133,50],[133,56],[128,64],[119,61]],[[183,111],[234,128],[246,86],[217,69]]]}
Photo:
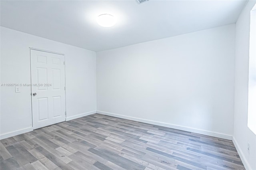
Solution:
{"label": "closed white six-panel door with a silver knob", "polygon": [[30,49],[33,128],[65,121],[64,55]]}

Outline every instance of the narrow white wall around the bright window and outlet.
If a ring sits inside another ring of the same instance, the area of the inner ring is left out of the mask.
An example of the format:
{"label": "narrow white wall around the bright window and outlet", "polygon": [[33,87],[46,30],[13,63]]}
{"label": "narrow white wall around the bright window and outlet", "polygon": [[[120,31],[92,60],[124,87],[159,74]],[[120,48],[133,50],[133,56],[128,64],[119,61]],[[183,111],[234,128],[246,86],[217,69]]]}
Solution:
{"label": "narrow white wall around the bright window and outlet", "polygon": [[[247,127],[250,10],[255,2],[248,2],[236,22],[233,141],[248,170],[256,170],[256,135]],[[250,154],[247,142],[250,142]]]}

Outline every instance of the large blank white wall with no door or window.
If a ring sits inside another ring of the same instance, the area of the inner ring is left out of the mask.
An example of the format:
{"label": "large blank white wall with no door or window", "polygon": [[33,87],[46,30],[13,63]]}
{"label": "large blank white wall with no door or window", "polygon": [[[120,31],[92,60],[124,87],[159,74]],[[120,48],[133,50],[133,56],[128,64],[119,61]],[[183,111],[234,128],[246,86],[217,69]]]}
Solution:
{"label": "large blank white wall with no door or window", "polygon": [[235,25],[97,52],[97,112],[232,138]]}

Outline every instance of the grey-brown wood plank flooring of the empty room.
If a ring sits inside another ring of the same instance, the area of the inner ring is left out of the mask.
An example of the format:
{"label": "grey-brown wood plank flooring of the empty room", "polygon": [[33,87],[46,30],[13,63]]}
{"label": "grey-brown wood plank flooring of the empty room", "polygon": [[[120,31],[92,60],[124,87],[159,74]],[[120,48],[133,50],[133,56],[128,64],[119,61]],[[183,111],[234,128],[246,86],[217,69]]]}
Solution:
{"label": "grey-brown wood plank flooring of the empty room", "polygon": [[244,170],[231,140],[94,114],[0,142],[1,170]]}

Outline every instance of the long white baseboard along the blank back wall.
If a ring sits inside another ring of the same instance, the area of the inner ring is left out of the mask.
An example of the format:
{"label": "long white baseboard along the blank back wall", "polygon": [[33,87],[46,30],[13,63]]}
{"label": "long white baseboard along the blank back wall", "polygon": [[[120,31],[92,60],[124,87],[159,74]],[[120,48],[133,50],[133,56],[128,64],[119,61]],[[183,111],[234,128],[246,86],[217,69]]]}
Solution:
{"label": "long white baseboard along the blank back wall", "polygon": [[184,130],[184,131],[188,131],[188,132],[194,132],[194,133],[204,134],[204,135],[208,135],[208,136],[214,136],[217,138],[232,140],[232,135],[229,135],[229,134],[222,134],[222,133],[211,132],[211,131],[202,130],[202,129],[183,127],[183,126],[179,126],[179,125],[172,125],[172,124],[162,123],[162,122],[157,122],[157,121],[150,121],[150,120],[146,120],[146,119],[118,115],[118,114],[108,113],[108,112],[104,112],[104,111],[97,111],[97,113],[102,114],[102,115],[108,115],[108,116],[112,116],[112,117],[118,117],[118,118],[122,118],[122,119],[128,119],[128,120],[132,120],[132,121],[143,122],[143,123],[148,123],[148,124],[158,125],[158,126],[168,127],[168,128],[175,128],[178,130]]}

